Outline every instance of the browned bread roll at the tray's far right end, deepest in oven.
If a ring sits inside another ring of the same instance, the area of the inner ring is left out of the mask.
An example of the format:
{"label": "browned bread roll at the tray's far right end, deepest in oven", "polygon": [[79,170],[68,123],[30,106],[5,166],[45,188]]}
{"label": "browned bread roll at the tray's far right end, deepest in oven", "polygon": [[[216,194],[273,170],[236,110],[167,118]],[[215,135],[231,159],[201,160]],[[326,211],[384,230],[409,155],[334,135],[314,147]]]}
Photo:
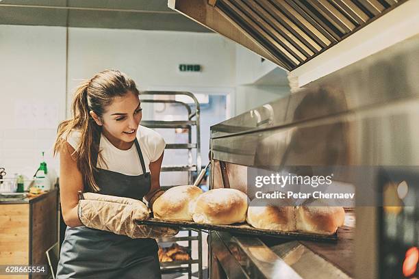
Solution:
{"label": "browned bread roll at the tray's far right end, deepest in oven", "polygon": [[333,235],[344,221],[343,207],[303,206],[296,209],[296,229],[301,232]]}

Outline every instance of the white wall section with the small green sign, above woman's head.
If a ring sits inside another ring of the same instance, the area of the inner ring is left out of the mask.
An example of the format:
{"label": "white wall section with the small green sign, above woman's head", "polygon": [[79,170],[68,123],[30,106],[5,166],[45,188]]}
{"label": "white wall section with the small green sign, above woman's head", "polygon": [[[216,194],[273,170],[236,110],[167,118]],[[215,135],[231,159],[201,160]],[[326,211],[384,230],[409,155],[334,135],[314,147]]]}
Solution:
{"label": "white wall section with the small green sign, above woman's head", "polygon": [[[140,89],[234,86],[235,45],[218,34],[116,29],[68,29],[68,92],[77,79],[106,68],[126,72]],[[179,72],[200,64],[201,72]]]}

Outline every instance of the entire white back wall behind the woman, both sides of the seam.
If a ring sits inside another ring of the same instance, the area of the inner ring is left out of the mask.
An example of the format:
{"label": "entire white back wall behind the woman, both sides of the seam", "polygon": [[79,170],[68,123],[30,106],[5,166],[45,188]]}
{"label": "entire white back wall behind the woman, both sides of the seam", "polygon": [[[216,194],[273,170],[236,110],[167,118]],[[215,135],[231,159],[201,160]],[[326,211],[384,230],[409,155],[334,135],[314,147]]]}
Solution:
{"label": "entire white back wall behind the woman, both sides of the seam", "polygon": [[[52,158],[58,123],[70,116],[79,81],[105,68],[127,72],[144,90],[231,94],[231,116],[287,92],[263,82],[243,85],[277,67],[218,34],[68,28],[67,44],[66,30],[0,26],[0,166],[8,174],[31,176],[42,151],[58,169]],[[181,73],[179,64],[201,64],[203,70]]]}

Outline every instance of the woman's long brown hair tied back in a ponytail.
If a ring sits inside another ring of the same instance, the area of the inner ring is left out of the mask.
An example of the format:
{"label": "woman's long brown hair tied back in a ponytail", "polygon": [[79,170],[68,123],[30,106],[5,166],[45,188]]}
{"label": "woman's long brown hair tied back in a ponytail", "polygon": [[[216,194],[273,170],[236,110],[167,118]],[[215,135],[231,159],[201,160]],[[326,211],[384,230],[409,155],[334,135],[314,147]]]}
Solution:
{"label": "woman's long brown hair tied back in a ponytail", "polygon": [[104,70],[91,79],[82,82],[73,99],[72,118],[62,121],[58,125],[55,139],[54,156],[66,148],[68,135],[71,131],[81,132],[78,148],[75,148],[73,157],[77,161],[77,168],[83,176],[85,191],[99,191],[94,174],[97,172],[96,158],[102,159],[99,152],[101,129],[89,111],[94,111],[102,120],[105,108],[112,103],[115,97],[125,96],[128,92],[139,94],[136,83],[123,72],[118,70]]}

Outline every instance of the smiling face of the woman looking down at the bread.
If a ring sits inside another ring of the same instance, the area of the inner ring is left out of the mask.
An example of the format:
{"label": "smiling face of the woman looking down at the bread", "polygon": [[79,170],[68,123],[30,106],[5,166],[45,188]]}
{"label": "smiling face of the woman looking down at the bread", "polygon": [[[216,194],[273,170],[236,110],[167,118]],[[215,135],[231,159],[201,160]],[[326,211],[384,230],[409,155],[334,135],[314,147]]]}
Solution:
{"label": "smiling face of the woman looking down at the bread", "polygon": [[136,139],[142,117],[141,110],[138,94],[128,92],[123,97],[114,98],[105,108],[100,121],[103,135],[117,148],[130,148]]}

